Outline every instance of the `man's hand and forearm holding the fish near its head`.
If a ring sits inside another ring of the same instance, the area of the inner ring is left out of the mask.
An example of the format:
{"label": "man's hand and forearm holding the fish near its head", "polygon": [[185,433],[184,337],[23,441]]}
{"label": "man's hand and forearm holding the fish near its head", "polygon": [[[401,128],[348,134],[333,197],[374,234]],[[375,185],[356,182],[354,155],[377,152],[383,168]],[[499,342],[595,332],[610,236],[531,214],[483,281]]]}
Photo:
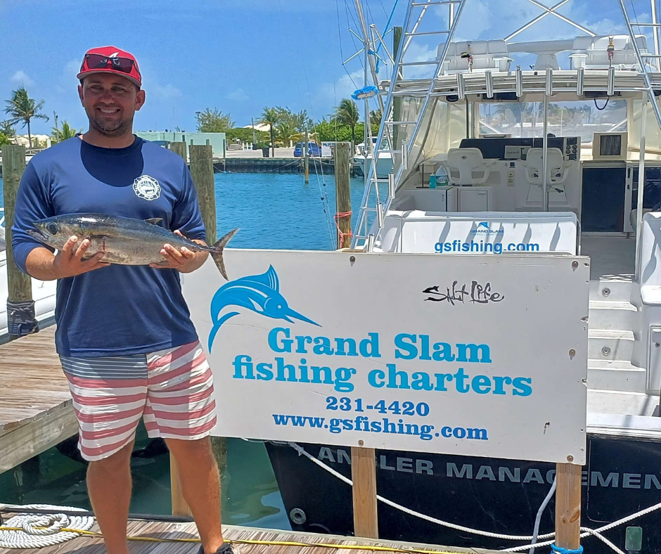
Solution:
{"label": "man's hand and forearm holding the fish near its head", "polygon": [[105,255],[104,252],[96,252],[91,258],[82,259],[90,242],[87,239],[83,240],[74,252],[77,243],[78,238],[72,236],[56,256],[53,256],[53,252],[47,248],[35,248],[25,260],[27,273],[39,281],[53,281],[110,265],[100,261]]}

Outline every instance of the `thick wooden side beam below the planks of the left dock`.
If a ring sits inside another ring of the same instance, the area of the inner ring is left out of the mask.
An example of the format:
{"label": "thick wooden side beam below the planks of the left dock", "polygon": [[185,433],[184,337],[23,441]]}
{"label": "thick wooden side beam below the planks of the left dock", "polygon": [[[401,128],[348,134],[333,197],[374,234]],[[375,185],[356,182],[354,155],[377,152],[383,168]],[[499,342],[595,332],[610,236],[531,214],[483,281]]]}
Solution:
{"label": "thick wooden side beam below the planks of the left dock", "polygon": [[78,432],[73,406],[68,404],[43,418],[0,437],[0,473],[52,448]]}

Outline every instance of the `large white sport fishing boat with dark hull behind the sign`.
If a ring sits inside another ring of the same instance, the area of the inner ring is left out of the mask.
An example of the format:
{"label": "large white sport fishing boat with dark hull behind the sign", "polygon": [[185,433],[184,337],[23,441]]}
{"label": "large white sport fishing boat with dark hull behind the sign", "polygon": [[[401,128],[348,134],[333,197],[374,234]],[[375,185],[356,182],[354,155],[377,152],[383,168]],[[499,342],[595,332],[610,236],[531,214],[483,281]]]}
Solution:
{"label": "large white sport fishing boat with dark hull behind the sign", "polygon": [[[361,20],[366,72],[371,67],[384,117],[368,153],[352,248],[589,256],[582,524],[602,527],[661,501],[661,25],[654,1],[651,17],[641,3],[638,13],[648,19],[632,20],[617,0],[604,3],[622,14],[624,25],[611,34],[553,6],[504,39],[455,40],[470,4],[409,1],[400,48],[381,51],[393,63],[390,79],[374,72],[382,35]],[[359,1],[356,7],[362,18]],[[577,28],[575,37],[517,41],[556,15]],[[423,50],[416,44],[432,44],[435,56],[416,58]],[[392,160],[386,174],[373,163],[382,155]],[[442,302],[463,298],[450,288],[432,293]],[[544,321],[530,323],[553,341]],[[349,448],[300,446],[351,477]],[[352,534],[350,487],[288,444],[269,442],[267,451],[293,529]],[[530,535],[555,472],[553,464],[523,460],[409,451],[376,457],[378,494],[418,513],[380,503],[379,536],[461,548],[516,543],[429,517]],[[540,533],[553,530],[553,509],[551,498]],[[638,515],[603,535],[620,551],[658,553],[658,522],[658,512]],[[593,536],[583,543],[590,553],[612,551]]]}

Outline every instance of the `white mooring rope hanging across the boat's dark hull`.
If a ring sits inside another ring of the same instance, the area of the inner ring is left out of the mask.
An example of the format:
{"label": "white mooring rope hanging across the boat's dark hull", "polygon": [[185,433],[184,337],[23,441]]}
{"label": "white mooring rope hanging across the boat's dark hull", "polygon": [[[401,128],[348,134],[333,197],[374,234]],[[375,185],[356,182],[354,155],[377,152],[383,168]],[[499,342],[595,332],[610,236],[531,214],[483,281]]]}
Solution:
{"label": "white mooring rope hanging across the boat's dark hull", "polygon": [[[327,471],[331,475],[334,475],[335,477],[338,477],[340,481],[345,482],[349,486],[353,487],[353,482],[351,479],[347,479],[344,475],[341,473],[338,473],[335,471],[333,468],[329,467],[325,463],[323,463],[321,460],[317,460],[312,454],[308,453],[305,451],[301,446],[296,444],[295,442],[289,442],[289,446],[291,446],[295,451],[297,451],[301,456],[305,456],[309,460],[312,460],[312,462],[316,463],[316,465],[319,465],[320,468],[323,468],[323,470]],[[401,504],[397,504],[396,502],[393,502],[391,500],[388,500],[387,498],[383,498],[383,496],[376,495],[376,498],[378,501],[383,502],[384,504],[389,505],[391,508],[394,508],[395,510],[399,510],[401,512],[404,512],[406,514],[412,515],[413,517],[419,517],[421,520],[425,520],[431,523],[435,523],[437,525],[441,525],[442,527],[449,527],[450,529],[455,529],[456,531],[461,531],[465,533],[470,533],[470,534],[475,534],[475,535],[480,535],[480,536],[487,536],[491,539],[503,539],[506,541],[533,541],[535,540],[534,536],[518,536],[518,535],[505,535],[505,534],[500,534],[500,533],[491,533],[488,531],[480,531],[479,529],[471,529],[470,527],[463,527],[463,525],[457,525],[454,523],[450,523],[447,521],[439,520],[436,517],[431,517],[430,515],[426,515],[420,512],[416,512],[415,510],[411,510],[409,508],[406,508],[405,506],[402,506]],[[605,536],[602,536],[601,534],[603,532],[609,531],[610,529],[613,529],[614,527],[617,527],[618,525],[621,525],[623,523],[627,523],[631,520],[635,520],[637,517],[642,517],[643,515],[647,515],[649,513],[654,512],[655,510],[659,510],[661,508],[661,502],[655,505],[650,506],[649,508],[646,508],[645,510],[641,510],[639,512],[636,512],[634,514],[628,515],[627,517],[623,517],[621,520],[617,520],[615,522],[609,523],[608,525],[604,525],[603,527],[599,527],[598,529],[590,529],[589,527],[581,527],[581,538],[584,538],[586,536],[596,536],[597,539],[608,545],[615,553],[617,554],[625,554],[620,550],[620,548],[617,548],[612,542],[610,542],[608,539],[605,538]],[[537,539],[544,540],[544,542],[541,543],[531,543],[531,544],[525,544],[522,546],[515,546],[513,548],[507,548],[506,550],[503,550],[503,552],[519,552],[521,550],[527,550],[531,546],[534,546],[534,548],[541,548],[544,546],[551,546],[553,543],[553,540],[546,540],[546,539],[553,539],[553,537],[556,536],[555,533],[547,533],[544,535],[539,535],[537,536]]]}

